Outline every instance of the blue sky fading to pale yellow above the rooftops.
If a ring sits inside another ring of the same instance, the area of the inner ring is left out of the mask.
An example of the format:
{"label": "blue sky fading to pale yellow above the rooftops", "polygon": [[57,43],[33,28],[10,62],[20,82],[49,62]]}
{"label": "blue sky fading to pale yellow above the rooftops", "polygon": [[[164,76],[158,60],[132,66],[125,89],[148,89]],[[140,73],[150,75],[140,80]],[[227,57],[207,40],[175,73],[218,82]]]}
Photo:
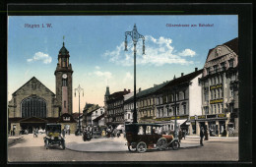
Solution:
{"label": "blue sky fading to pale yellow above the rooftops", "polygon": [[[86,102],[103,106],[106,85],[110,93],[133,91],[133,42],[127,36],[128,51],[124,51],[124,39],[125,31],[132,31],[135,24],[146,46],[143,55],[142,39],[137,43],[136,84],[142,90],[202,69],[209,49],[238,37],[236,15],[9,16],[8,100],[32,77],[55,93],[54,71],[63,41],[74,71],[73,112],[79,110],[74,95],[79,84],[84,88],[81,112]],[[178,24],[189,27],[170,27]]]}

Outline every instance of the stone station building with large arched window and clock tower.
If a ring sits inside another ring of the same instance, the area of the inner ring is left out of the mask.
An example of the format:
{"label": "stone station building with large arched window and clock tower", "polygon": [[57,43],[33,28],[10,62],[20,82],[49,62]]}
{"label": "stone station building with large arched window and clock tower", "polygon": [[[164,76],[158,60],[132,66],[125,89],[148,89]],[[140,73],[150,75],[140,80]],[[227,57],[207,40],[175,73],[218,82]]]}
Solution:
{"label": "stone station building with large arched window and clock tower", "polygon": [[44,129],[47,123],[59,123],[62,129],[74,133],[76,121],[72,117],[72,74],[69,51],[59,51],[55,70],[56,94],[35,77],[18,88],[8,103],[8,130],[19,134]]}

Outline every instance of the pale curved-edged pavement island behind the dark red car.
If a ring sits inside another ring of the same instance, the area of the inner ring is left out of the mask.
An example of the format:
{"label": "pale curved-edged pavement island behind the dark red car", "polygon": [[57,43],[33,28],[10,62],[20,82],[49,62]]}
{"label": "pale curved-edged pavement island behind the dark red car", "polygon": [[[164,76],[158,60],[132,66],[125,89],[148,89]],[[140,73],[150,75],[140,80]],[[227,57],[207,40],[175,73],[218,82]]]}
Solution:
{"label": "pale curved-edged pavement island behind the dark red car", "polygon": [[[126,139],[122,136],[120,138],[104,138],[104,139],[92,139],[90,141],[84,141],[82,136],[70,135],[66,136],[66,148],[74,151],[82,152],[123,152],[129,151]],[[198,141],[182,140],[180,148],[190,148],[200,146]]]}

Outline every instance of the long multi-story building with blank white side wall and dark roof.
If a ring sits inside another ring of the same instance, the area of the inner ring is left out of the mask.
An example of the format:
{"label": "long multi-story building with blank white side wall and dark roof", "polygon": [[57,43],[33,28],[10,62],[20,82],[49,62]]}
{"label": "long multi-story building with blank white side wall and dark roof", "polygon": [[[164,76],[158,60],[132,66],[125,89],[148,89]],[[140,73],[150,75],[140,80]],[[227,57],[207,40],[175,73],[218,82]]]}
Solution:
{"label": "long multi-story building with blank white side wall and dark roof", "polygon": [[186,121],[191,115],[201,114],[201,86],[198,79],[202,72],[195,68],[188,75],[181,73],[181,77],[174,77],[156,92],[156,123],[162,125],[163,131],[173,131],[176,119],[178,127],[192,133]]}

